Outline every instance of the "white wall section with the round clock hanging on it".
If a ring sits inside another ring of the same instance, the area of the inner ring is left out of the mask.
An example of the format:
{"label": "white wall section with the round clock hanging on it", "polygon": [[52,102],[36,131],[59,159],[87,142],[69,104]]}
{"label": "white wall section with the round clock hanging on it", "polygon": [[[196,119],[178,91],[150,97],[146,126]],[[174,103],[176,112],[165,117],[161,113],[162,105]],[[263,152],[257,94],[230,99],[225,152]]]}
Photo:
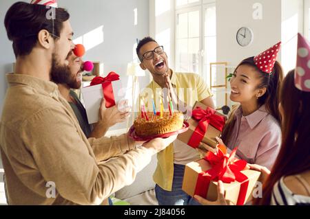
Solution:
{"label": "white wall section with the round clock hanging on it", "polygon": [[[262,19],[253,19],[253,5],[262,4]],[[281,0],[217,0],[216,20],[218,36],[218,62],[238,63],[255,56],[281,40]],[[236,32],[240,27],[250,27],[254,41],[247,47],[240,47]]]}

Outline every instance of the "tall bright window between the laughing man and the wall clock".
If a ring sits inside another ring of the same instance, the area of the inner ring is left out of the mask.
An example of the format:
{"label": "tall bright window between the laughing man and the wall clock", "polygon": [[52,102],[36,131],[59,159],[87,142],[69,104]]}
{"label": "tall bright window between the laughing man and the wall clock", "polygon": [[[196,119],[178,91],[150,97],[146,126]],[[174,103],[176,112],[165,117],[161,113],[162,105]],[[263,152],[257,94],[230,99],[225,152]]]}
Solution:
{"label": "tall bright window between the laughing man and the wall clock", "polygon": [[209,82],[216,62],[216,5],[176,0],[176,71],[194,72]]}

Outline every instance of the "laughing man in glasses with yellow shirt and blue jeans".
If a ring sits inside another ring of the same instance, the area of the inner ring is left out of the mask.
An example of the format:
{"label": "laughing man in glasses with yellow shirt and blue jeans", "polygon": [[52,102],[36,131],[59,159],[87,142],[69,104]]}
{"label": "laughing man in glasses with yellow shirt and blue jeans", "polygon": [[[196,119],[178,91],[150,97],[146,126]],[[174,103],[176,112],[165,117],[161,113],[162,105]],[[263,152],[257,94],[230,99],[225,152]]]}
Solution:
{"label": "laughing man in glasses with yellow shirt and blue jeans", "polygon": [[[163,46],[150,37],[143,38],[138,43],[136,53],[141,61],[141,68],[149,70],[153,76],[152,82],[141,93],[152,90],[154,101],[162,95],[162,89],[169,91],[174,106],[185,104],[184,109],[191,109],[196,101],[211,108],[214,102],[211,91],[203,78],[195,73],[176,73],[169,68],[167,54]],[[163,100],[166,100],[164,98]],[[156,102],[156,108],[159,108]],[[180,111],[182,108],[179,108]],[[198,152],[185,143],[174,141],[165,150],[157,154],[157,168],[154,173],[155,192],[159,205],[196,205],[196,202],[182,190],[185,164],[199,159]]]}

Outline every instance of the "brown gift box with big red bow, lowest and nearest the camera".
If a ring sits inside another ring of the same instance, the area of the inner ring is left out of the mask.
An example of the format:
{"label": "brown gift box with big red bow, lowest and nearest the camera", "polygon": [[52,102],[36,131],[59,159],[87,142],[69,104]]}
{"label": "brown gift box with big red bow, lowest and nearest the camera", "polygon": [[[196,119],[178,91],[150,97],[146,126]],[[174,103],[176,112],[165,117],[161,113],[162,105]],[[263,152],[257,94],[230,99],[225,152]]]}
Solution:
{"label": "brown gift box with big red bow, lowest and nearest the camera", "polygon": [[225,199],[234,205],[244,205],[253,197],[252,192],[260,172],[245,170],[246,161],[235,159],[236,148],[231,154],[218,150],[208,152],[204,159],[187,163],[182,189],[194,197],[199,195],[209,201],[218,198],[218,181],[223,181]]}

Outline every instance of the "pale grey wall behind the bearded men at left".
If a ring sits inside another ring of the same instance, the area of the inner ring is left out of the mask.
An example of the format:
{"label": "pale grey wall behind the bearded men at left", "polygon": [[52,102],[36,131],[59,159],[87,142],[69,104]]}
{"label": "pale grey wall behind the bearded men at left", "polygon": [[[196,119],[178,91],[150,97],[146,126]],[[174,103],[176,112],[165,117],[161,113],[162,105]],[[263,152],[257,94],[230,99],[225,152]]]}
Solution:
{"label": "pale grey wall behind the bearded men at left", "polygon": [[[30,0],[29,0],[30,1]],[[29,2],[27,0],[27,2]],[[0,21],[14,0],[0,2]],[[74,4],[73,4],[74,3]],[[136,58],[136,38],[149,35],[149,1],[145,0],[61,0],[59,7],[70,12],[70,23],[74,30],[74,38],[83,41],[89,48],[84,60],[103,62],[103,75],[115,71],[121,75],[123,84],[127,84],[127,63]],[[137,25],[134,25],[134,9],[137,9]],[[14,62],[12,43],[8,41],[6,30],[0,25],[0,113],[6,93],[5,73],[11,71]],[[6,54],[3,56],[3,54]],[[149,82],[149,76],[140,77],[141,87]],[[131,84],[131,82],[128,82]],[[115,126],[116,128],[123,128]],[[125,127],[124,127],[125,128]]]}

